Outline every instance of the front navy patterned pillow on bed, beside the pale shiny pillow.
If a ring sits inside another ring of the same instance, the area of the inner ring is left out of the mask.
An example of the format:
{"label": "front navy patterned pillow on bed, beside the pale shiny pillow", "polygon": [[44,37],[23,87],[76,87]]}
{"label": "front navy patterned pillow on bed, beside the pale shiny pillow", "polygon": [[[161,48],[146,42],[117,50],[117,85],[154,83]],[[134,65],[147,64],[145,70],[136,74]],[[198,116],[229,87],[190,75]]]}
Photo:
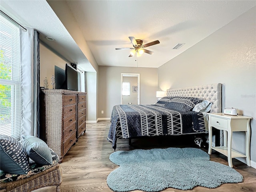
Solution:
{"label": "front navy patterned pillow on bed, beside the pale shiny pillow", "polygon": [[180,111],[191,111],[194,106],[200,102],[202,102],[202,99],[196,97],[175,96],[170,102],[168,102],[168,104],[166,104],[166,107]]}

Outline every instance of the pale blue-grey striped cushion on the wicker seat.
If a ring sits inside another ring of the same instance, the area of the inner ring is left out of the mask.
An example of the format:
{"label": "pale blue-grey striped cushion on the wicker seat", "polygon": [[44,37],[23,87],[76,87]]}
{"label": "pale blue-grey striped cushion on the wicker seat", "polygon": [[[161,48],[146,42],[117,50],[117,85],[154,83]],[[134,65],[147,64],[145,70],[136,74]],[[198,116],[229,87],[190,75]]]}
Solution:
{"label": "pale blue-grey striped cushion on the wicker seat", "polygon": [[30,159],[42,165],[52,164],[52,154],[47,144],[40,138],[34,136],[22,136],[22,145]]}

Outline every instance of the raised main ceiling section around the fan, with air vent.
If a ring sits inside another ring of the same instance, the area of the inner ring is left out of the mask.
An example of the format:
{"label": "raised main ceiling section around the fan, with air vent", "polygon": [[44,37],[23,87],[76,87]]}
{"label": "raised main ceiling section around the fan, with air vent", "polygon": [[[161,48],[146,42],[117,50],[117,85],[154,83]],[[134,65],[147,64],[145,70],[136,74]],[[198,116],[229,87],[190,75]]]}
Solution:
{"label": "raised main ceiling section around the fan, with air vent", "polygon": [[[159,67],[219,28],[256,1],[67,1],[98,65]],[[153,55],[128,57],[128,36],[145,43]],[[177,43],[185,43],[172,50]],[[221,42],[220,42],[221,43]]]}

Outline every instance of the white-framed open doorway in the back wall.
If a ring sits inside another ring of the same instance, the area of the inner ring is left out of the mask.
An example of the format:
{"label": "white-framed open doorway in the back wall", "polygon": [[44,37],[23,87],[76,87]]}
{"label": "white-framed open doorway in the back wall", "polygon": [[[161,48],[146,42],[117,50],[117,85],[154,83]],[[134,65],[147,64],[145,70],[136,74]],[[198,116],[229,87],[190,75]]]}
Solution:
{"label": "white-framed open doorway in the back wall", "polygon": [[121,104],[140,104],[139,73],[121,73]]}

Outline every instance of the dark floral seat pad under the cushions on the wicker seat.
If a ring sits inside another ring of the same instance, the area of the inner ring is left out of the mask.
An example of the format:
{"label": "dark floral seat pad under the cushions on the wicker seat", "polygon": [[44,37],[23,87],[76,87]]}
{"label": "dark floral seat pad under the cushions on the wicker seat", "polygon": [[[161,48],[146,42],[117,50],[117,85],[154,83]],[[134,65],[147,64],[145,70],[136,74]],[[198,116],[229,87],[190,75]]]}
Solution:
{"label": "dark floral seat pad under the cushions on the wicker seat", "polygon": [[35,162],[32,162],[30,163],[30,170],[27,174],[9,174],[7,172],[0,170],[0,182],[7,183],[7,182],[16,181],[19,179],[28,178],[34,174],[40,173],[54,166],[59,162],[59,157],[52,149],[50,149],[50,151],[52,154],[52,165],[40,165],[40,164],[36,164]]}

